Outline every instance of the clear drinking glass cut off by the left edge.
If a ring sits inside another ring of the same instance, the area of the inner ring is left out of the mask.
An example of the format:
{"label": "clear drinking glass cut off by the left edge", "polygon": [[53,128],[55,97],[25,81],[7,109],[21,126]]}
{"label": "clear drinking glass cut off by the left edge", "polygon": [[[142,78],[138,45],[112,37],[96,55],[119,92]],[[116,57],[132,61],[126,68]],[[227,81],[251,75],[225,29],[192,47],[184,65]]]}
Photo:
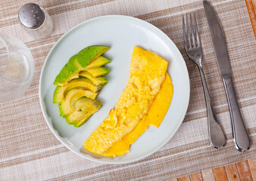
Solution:
{"label": "clear drinking glass cut off by the left edge", "polygon": [[20,97],[30,87],[34,69],[29,48],[0,32],[0,103]]}

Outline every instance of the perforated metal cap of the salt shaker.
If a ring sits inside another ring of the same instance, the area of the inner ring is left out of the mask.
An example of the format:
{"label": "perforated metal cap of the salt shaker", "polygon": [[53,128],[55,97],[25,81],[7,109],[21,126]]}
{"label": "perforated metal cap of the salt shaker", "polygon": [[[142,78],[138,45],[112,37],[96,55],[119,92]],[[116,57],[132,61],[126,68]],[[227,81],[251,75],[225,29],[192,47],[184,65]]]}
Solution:
{"label": "perforated metal cap of the salt shaker", "polygon": [[20,8],[19,20],[25,28],[36,29],[44,22],[45,13],[39,5],[28,3]]}

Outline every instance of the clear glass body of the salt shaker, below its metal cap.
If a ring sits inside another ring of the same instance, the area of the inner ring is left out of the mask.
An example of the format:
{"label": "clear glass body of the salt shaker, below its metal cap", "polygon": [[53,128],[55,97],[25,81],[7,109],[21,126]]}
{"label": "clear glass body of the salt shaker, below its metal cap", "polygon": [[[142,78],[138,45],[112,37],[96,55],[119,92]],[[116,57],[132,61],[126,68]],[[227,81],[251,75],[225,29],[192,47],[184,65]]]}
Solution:
{"label": "clear glass body of the salt shaker, below its metal cap", "polygon": [[37,29],[27,29],[24,26],[22,26],[23,29],[25,29],[25,31],[27,32],[27,34],[35,39],[48,38],[50,35],[52,35],[53,32],[52,18],[49,16],[47,11],[43,9],[42,11],[44,11],[45,13],[45,20],[41,26],[39,26]]}

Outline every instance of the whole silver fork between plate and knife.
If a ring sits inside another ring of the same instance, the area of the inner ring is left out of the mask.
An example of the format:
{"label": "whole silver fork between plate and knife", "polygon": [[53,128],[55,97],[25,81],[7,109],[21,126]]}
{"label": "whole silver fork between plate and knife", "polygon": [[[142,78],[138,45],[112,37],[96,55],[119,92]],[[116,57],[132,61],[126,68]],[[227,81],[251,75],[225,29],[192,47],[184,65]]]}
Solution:
{"label": "whole silver fork between plate and knife", "polygon": [[[212,106],[212,103],[211,103],[211,97],[209,94],[208,86],[206,84],[206,80],[204,77],[204,71],[201,66],[202,51],[201,51],[201,43],[198,35],[198,26],[195,19],[195,12],[194,12],[194,26],[195,26],[196,41],[195,41],[194,28],[192,23],[192,15],[190,14],[191,32],[189,29],[188,15],[186,14],[186,27],[185,27],[184,15],[183,15],[183,38],[184,38],[184,46],[186,49],[186,53],[188,54],[189,58],[192,59],[195,62],[195,64],[198,66],[198,69],[201,75],[201,81],[204,87],[204,97],[205,97],[206,108],[208,113],[209,140],[211,145],[214,146],[215,149],[220,149],[225,145],[226,139],[224,137],[223,130],[220,127],[220,123],[217,120],[217,117],[215,115],[214,107]],[[186,37],[188,37],[188,41]]]}

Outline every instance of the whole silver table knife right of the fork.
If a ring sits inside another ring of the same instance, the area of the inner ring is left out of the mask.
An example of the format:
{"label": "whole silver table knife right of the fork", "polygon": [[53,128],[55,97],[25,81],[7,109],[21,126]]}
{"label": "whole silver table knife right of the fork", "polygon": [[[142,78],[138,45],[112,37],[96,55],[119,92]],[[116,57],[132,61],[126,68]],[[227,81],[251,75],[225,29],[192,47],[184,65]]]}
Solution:
{"label": "whole silver table knife right of the fork", "polygon": [[203,5],[211,33],[211,41],[214,45],[217,64],[226,90],[226,99],[229,105],[229,113],[233,130],[233,141],[236,149],[239,152],[243,152],[250,148],[250,141],[236,100],[225,37],[214,8],[205,0],[203,1]]}

